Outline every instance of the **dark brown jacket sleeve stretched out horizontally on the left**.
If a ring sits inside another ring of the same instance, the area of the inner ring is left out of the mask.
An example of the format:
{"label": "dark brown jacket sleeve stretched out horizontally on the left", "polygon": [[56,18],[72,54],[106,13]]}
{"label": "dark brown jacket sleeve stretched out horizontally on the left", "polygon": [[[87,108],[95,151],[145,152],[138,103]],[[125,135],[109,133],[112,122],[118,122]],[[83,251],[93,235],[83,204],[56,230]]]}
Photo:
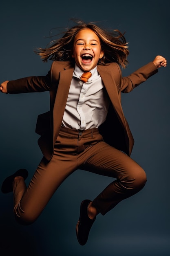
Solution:
{"label": "dark brown jacket sleeve stretched out horizontally on the left", "polygon": [[7,83],[7,92],[9,94],[25,92],[45,92],[51,87],[51,72],[46,76],[29,76],[21,79],[9,81]]}

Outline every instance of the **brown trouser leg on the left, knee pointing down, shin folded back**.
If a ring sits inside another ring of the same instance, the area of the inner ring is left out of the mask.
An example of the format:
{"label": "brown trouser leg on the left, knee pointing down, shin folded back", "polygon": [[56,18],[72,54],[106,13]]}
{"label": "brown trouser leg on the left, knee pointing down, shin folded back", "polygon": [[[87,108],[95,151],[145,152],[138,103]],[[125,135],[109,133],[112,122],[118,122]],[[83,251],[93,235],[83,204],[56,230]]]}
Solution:
{"label": "brown trouser leg on the left, knee pointing down, shin folded back", "polygon": [[22,194],[21,183],[18,183],[14,213],[16,220],[23,225],[33,223],[45,208],[60,184],[74,171],[70,162],[63,162],[55,156],[50,162],[42,159],[35,171],[29,186]]}

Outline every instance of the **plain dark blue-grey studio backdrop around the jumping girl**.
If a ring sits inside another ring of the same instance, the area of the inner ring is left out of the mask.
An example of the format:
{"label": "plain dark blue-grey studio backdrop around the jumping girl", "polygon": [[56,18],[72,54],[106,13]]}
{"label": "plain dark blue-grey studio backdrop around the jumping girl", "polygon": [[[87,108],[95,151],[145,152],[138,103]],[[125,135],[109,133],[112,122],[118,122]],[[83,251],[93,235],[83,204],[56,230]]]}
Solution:
{"label": "plain dark blue-grey studio backdrop around the jumping girl", "polygon": [[[71,27],[70,18],[97,21],[126,32],[129,65],[123,76],[152,61],[170,60],[169,1],[1,1],[0,82],[46,75],[33,52],[49,36]],[[52,29],[52,30],[51,30]],[[89,240],[79,245],[75,225],[80,203],[112,181],[77,170],[60,186],[38,220],[17,224],[12,193],[0,193],[1,256],[168,256],[170,255],[170,85],[169,65],[129,94],[122,95],[124,114],[135,139],[131,157],[146,171],[142,191],[97,216]],[[37,116],[49,110],[49,92],[0,94],[0,185],[19,168],[29,171],[27,185],[42,154],[35,134]]]}

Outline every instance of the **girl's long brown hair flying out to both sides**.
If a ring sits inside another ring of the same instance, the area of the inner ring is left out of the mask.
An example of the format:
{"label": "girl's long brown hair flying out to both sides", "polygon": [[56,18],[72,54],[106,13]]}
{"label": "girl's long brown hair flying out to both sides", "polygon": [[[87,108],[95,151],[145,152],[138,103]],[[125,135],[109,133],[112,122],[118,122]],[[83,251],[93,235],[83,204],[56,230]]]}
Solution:
{"label": "girl's long brown hair flying out to both sides", "polygon": [[66,29],[64,36],[57,40],[52,40],[46,48],[38,48],[34,52],[41,56],[42,61],[71,61],[73,52],[73,43],[76,34],[81,29],[91,29],[99,37],[104,56],[99,59],[98,65],[106,65],[110,62],[116,62],[122,67],[128,64],[127,56],[129,54],[128,46],[124,34],[118,29],[107,31],[94,24],[94,22],[85,23],[81,20],[74,20],[77,25]]}

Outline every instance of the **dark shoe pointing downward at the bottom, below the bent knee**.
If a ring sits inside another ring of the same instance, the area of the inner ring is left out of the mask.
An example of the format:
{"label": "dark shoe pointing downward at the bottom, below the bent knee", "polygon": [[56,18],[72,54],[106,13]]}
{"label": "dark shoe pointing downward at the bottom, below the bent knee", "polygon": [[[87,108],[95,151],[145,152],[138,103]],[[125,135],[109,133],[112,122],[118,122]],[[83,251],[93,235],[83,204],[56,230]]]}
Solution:
{"label": "dark shoe pointing downward at the bottom, below the bent knee", "polygon": [[93,220],[88,217],[87,208],[91,200],[84,200],[80,206],[79,220],[76,225],[77,240],[80,245],[85,245],[88,240],[88,234],[96,218]]}

